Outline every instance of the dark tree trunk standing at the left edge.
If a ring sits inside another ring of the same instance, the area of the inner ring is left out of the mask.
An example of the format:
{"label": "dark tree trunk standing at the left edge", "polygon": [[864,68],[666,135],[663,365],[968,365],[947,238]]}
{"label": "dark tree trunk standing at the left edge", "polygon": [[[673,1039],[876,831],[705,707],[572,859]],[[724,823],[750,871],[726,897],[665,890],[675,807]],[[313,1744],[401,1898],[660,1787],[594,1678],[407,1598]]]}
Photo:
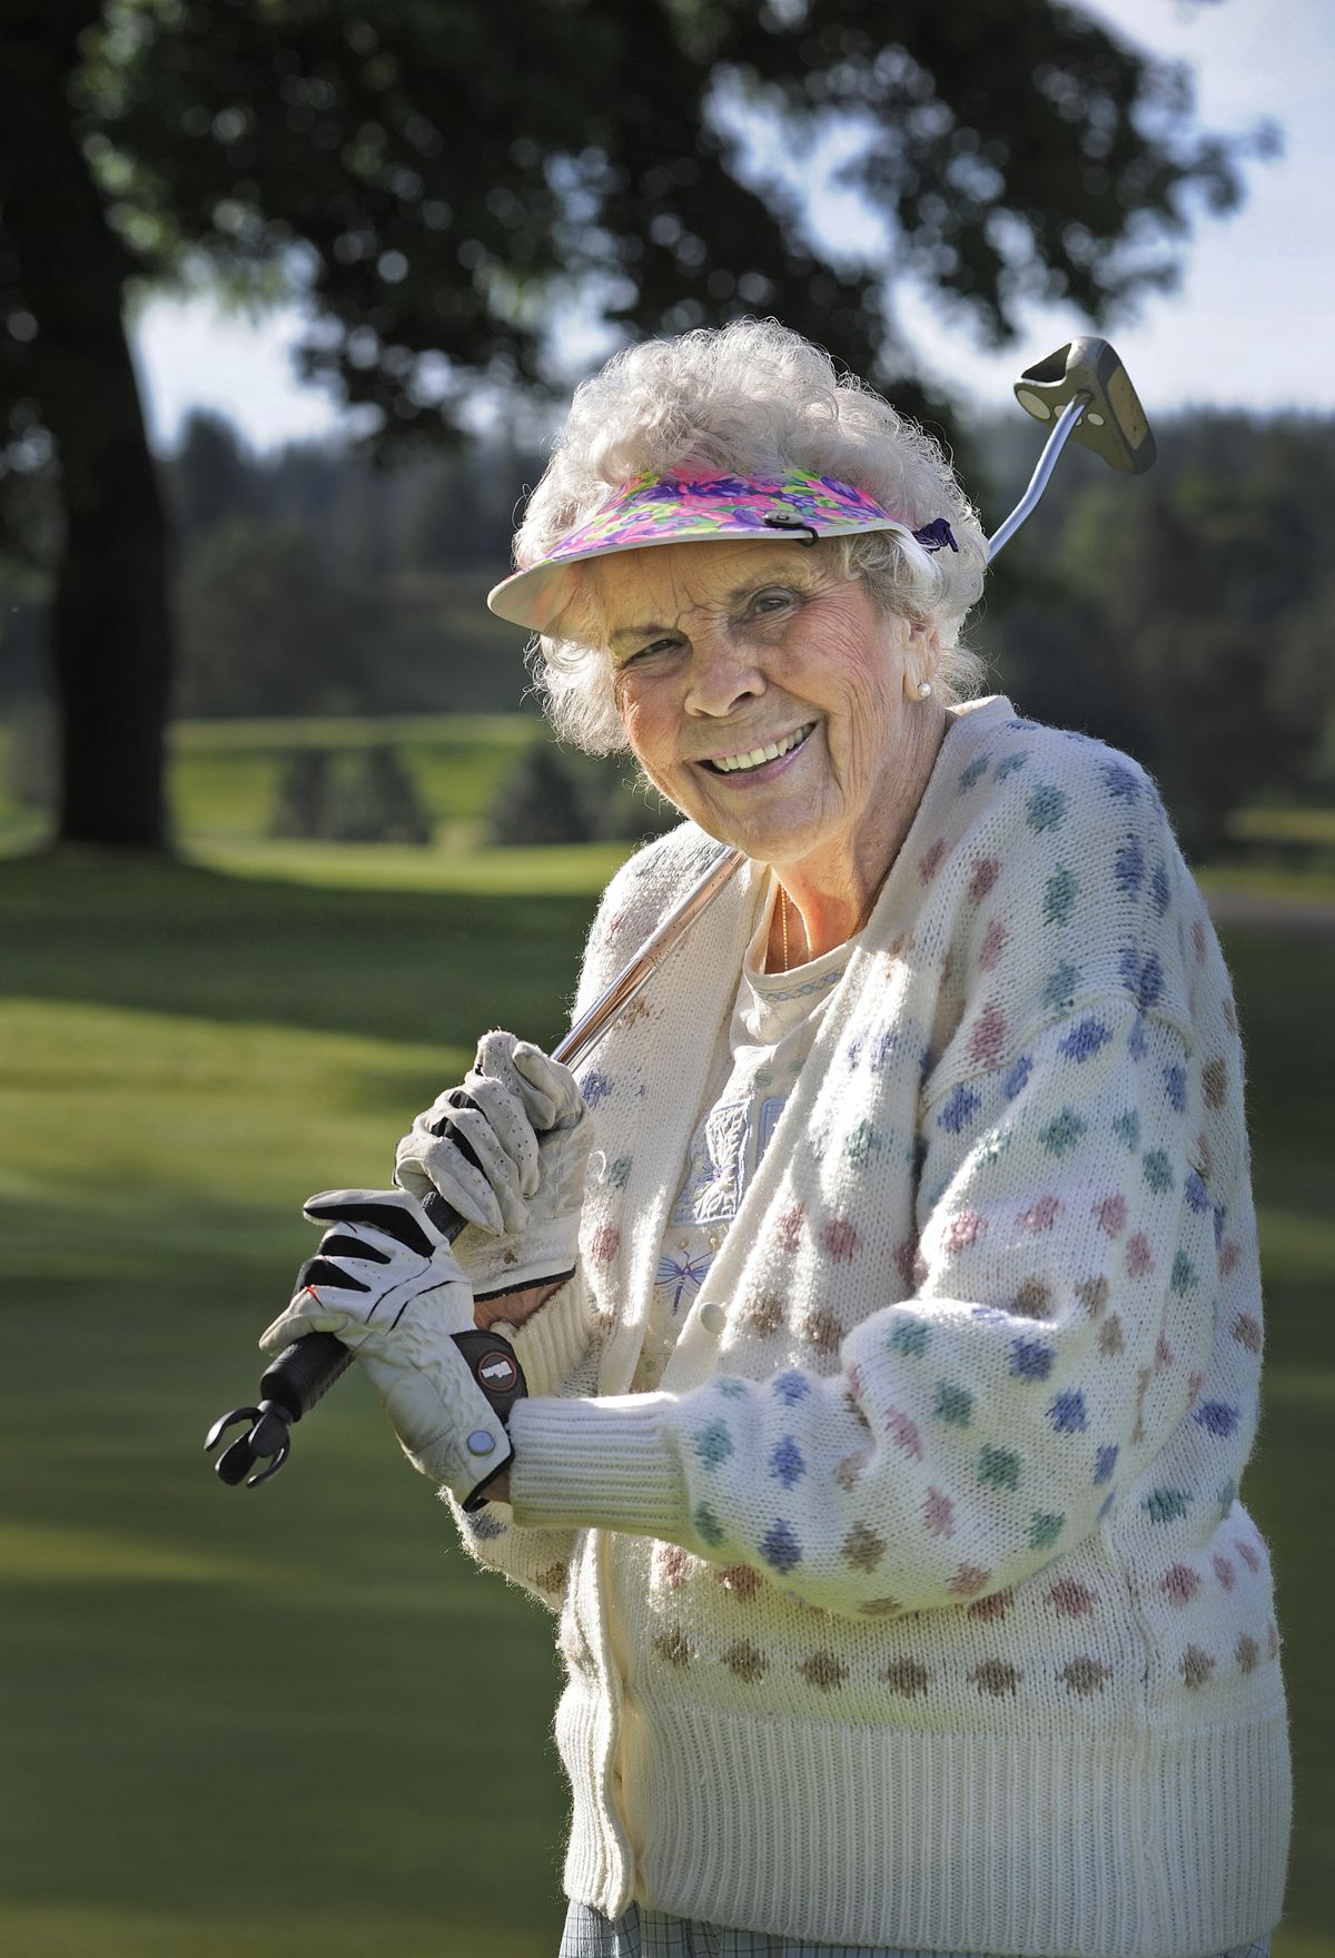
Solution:
{"label": "dark tree trunk standing at the left edge", "polygon": [[[59,836],[162,850],[168,538],[121,317],[133,266],[108,225],[69,100],[88,14],[88,0],[20,0],[0,27],[4,229],[37,321],[27,366],[57,446],[65,519],[49,613]],[[37,123],[43,139],[27,141]]]}

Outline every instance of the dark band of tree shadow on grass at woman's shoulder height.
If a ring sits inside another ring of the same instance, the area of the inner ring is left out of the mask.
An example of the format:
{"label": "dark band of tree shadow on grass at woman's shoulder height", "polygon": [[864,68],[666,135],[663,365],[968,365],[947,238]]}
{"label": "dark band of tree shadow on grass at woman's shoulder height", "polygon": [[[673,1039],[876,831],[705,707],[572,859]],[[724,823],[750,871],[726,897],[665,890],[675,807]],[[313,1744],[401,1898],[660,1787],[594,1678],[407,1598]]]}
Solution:
{"label": "dark band of tree shadow on grass at woman's shoulder height", "polygon": [[12,860],[0,863],[0,997],[466,1048],[487,1026],[517,1026],[552,1044],[595,903]]}

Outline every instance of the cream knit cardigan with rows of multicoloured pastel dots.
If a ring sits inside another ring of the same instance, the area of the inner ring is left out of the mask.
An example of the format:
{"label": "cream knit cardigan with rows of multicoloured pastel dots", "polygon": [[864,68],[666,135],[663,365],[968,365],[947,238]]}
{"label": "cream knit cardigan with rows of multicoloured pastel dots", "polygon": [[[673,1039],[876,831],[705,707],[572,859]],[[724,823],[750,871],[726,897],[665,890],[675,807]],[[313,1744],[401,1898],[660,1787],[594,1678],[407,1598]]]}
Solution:
{"label": "cream knit cardigan with rows of multicoloured pastel dots", "polygon": [[[583,1010],[716,850],[609,885]],[[748,865],[581,1075],[581,1269],[517,1335],[560,1611],[566,1889],[842,1944],[1194,1958],[1280,1915],[1288,1731],[1239,1504],[1243,1051],[1149,775],[957,711],[683,1324],[628,1392],[763,903]]]}

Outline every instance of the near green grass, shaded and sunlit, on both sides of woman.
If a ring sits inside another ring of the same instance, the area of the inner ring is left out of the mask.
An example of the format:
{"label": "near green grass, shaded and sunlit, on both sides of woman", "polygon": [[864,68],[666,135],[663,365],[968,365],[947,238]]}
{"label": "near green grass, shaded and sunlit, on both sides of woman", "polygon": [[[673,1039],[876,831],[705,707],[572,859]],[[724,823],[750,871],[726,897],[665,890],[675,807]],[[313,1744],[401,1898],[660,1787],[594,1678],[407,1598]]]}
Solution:
{"label": "near green grass, shaded and sunlit, on both sides of woman", "polygon": [[[483,1576],[350,1376],[280,1480],[207,1423],[313,1232],[476,1036],[554,1042],[619,852],[0,862],[0,1952],[552,1958],[548,1613]],[[1335,1958],[1335,946],[1225,946],[1268,1275],[1243,1490],[1298,1752],[1274,1958]]]}

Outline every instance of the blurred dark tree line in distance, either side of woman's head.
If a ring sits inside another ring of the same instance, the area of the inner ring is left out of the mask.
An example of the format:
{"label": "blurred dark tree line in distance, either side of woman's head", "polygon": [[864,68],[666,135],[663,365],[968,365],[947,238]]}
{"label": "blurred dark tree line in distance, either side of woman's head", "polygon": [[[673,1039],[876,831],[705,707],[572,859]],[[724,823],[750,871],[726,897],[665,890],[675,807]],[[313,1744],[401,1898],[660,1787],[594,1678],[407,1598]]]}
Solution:
{"label": "blurred dark tree line in distance, either side of woman's head", "polygon": [[[1037,443],[1018,415],[975,429],[969,476],[990,527]],[[1159,429],[1159,450],[1137,482],[1067,452],[998,558],[973,642],[1028,713],[1139,756],[1206,856],[1243,803],[1335,791],[1335,423],[1184,415]],[[511,713],[529,683],[523,640],[491,619],[485,591],[540,470],[540,454],[503,439],[391,470],[315,444],[256,456],[196,415],[164,464],[176,715]],[[12,535],[41,535],[47,495],[29,480]],[[43,585],[39,554],[0,560],[10,721],[39,717]],[[546,799],[552,836],[644,818],[634,801],[581,818],[574,785],[587,803],[593,783],[581,764],[532,766],[542,779],[515,793],[536,793],[538,811]]]}

